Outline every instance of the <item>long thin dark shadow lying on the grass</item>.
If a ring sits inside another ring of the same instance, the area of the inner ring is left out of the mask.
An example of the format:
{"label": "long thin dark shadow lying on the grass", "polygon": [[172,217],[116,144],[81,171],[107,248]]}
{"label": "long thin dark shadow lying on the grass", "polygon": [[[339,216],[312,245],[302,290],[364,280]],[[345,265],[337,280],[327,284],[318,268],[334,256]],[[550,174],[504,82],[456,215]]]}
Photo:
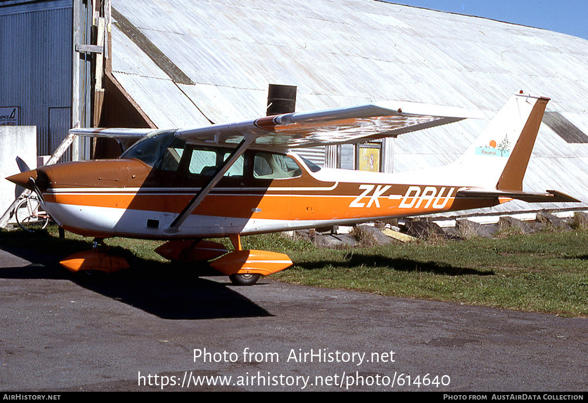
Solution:
{"label": "long thin dark shadow lying on the grass", "polygon": [[[493,270],[477,270],[469,267],[457,267],[446,263],[436,261],[418,261],[407,258],[389,258],[380,255],[350,254],[343,262],[336,263],[337,266],[344,268],[353,268],[358,266],[365,267],[389,267],[397,271],[421,271],[426,273],[446,274],[447,276],[493,276]],[[332,266],[333,262],[329,260],[315,261],[309,263],[300,263],[297,266],[313,270]]]}

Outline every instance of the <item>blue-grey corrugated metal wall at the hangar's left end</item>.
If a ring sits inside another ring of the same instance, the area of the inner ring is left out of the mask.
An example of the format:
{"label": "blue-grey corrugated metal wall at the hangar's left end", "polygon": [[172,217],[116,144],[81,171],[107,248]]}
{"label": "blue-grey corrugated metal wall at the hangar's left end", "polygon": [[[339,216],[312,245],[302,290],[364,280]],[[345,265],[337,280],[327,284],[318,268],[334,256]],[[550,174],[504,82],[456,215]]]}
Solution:
{"label": "blue-grey corrugated metal wall at the hangar's left end", "polygon": [[71,115],[49,118],[71,108],[71,58],[72,1],[0,6],[0,106],[19,106],[20,124],[37,127],[39,155],[54,150],[51,125],[71,126]]}

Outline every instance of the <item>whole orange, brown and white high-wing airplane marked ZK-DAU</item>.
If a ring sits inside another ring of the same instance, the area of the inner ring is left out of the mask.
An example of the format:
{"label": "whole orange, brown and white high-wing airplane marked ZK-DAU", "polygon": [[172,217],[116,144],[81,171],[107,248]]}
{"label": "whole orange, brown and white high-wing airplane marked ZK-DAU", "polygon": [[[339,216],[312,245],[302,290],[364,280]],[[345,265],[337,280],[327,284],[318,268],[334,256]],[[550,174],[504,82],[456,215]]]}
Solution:
{"label": "whole orange, brown and white high-wing airplane marked ZK-DAU", "polygon": [[[243,234],[475,209],[512,199],[579,202],[554,190],[522,190],[548,101],[513,95],[462,156],[433,169],[320,168],[290,150],[396,136],[480,117],[479,112],[385,102],[197,129],[72,129],[82,136],[138,141],[119,159],[55,164],[7,179],[38,193],[66,230],[98,240],[166,240],[156,249],[162,256],[216,258],[213,268],[235,284],[249,285],[292,261],[282,253],[242,250]],[[227,236],[235,248],[230,252],[203,240]],[[72,271],[127,266],[96,248],[61,264]]]}

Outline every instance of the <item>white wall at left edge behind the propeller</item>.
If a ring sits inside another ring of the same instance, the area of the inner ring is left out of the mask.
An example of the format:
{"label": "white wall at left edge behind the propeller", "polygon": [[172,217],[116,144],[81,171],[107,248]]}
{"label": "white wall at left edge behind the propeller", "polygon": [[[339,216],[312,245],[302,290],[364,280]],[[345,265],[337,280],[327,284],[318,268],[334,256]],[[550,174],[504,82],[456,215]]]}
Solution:
{"label": "white wall at left edge behind the propeller", "polygon": [[[10,207],[22,188],[4,179],[19,173],[16,157],[36,168],[36,126],[0,126],[0,215]],[[18,192],[18,193],[17,193]]]}

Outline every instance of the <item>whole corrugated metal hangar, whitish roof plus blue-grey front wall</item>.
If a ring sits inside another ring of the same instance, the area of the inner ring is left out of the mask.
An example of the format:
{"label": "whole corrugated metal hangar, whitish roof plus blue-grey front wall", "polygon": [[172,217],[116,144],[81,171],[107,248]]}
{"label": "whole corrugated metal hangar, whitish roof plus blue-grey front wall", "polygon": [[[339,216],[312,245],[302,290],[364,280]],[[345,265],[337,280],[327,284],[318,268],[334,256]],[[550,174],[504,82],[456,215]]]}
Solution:
{"label": "whole corrugated metal hangar, whitish roof plus blue-grey front wall", "polygon": [[[376,0],[12,0],[0,6],[0,41],[0,109],[38,127],[39,153],[78,122],[184,127],[263,116],[270,83],[297,87],[296,110],[409,100],[488,119],[524,90],[552,99],[524,189],[561,190],[588,207],[588,41],[574,36]],[[435,167],[486,123],[302,152],[332,167],[362,167],[365,150],[383,172]],[[492,212],[546,208],[570,204]]]}

